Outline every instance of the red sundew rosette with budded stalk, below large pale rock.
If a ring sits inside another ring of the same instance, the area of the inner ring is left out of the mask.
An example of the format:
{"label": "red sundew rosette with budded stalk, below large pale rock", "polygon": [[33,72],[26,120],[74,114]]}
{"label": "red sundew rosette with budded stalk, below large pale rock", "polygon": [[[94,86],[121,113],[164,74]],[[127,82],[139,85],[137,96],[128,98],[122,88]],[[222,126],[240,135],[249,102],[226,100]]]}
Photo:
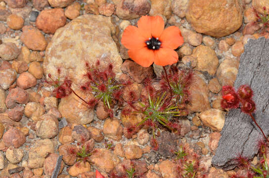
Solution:
{"label": "red sundew rosette with budded stalk, below large pale rock", "polygon": [[[65,79],[60,84],[59,77],[53,80],[51,74],[48,74],[49,81],[46,83],[53,85],[55,89],[53,93],[56,98],[63,98],[70,95],[72,92],[79,97],[89,108],[93,108],[99,100],[103,101],[105,110],[113,117],[112,108],[117,102],[121,101],[122,85],[115,80],[115,73],[113,72],[113,64],[108,59],[100,62],[97,60],[95,65],[90,65],[85,62],[85,73],[83,74],[83,82],[78,85],[81,93],[91,93],[94,98],[85,100],[75,90],[71,88],[72,81]],[[60,69],[57,70],[60,76]]]}

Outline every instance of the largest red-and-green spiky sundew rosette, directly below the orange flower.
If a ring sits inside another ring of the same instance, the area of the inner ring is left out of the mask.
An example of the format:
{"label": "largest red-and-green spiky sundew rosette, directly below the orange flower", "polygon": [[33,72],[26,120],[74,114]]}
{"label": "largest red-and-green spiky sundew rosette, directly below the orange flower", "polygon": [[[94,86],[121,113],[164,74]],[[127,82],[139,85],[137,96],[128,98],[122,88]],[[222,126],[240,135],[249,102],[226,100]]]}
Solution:
{"label": "largest red-and-green spiky sundew rosette, directly below the orange flower", "polygon": [[[125,99],[128,106],[122,111],[123,115],[142,114],[143,120],[138,125],[125,127],[124,135],[131,138],[142,126],[152,129],[150,145],[153,150],[158,150],[158,142],[155,134],[159,127],[164,126],[176,134],[180,134],[181,126],[177,123],[178,116],[187,115],[186,104],[189,101],[189,84],[192,72],[179,70],[172,66],[169,70],[168,83],[165,76],[158,82],[145,79],[144,89],[138,98],[134,91],[130,91]],[[170,90],[170,87],[172,90]]]}

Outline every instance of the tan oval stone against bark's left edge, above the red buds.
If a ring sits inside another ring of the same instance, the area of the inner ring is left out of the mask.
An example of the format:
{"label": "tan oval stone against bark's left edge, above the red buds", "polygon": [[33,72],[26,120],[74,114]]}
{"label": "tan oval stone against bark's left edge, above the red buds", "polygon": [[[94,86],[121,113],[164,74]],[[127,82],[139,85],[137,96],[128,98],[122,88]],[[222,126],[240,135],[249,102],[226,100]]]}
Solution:
{"label": "tan oval stone against bark's left edge, above the red buds", "polygon": [[224,59],[217,70],[217,77],[222,86],[233,86],[238,72],[238,67],[238,60],[231,58]]}

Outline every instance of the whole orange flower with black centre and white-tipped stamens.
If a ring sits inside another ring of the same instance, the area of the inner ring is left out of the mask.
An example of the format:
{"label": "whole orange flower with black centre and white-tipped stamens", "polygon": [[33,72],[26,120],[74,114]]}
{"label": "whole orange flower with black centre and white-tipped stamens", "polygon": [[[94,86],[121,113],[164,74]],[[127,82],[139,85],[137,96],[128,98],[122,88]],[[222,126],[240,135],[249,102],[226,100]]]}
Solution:
{"label": "whole orange flower with black centre and white-tipped stamens", "polygon": [[172,65],[179,60],[174,50],[183,44],[178,27],[164,29],[161,16],[142,16],[137,27],[129,25],[123,32],[122,44],[128,48],[130,58],[143,67]]}

